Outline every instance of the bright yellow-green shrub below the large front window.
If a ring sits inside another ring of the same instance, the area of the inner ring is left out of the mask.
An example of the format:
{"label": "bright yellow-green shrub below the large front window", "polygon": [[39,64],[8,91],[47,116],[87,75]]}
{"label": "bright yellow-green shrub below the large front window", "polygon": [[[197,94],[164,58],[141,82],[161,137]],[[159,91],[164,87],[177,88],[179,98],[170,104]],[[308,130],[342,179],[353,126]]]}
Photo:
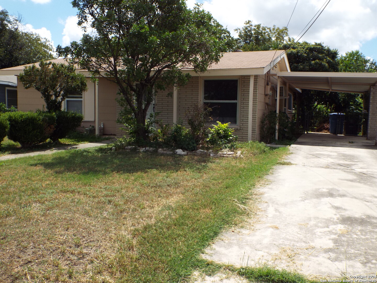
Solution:
{"label": "bright yellow-green shrub below the large front window", "polygon": [[213,128],[209,128],[209,134],[207,141],[210,145],[220,146],[222,148],[236,148],[236,141],[238,136],[233,135],[234,129],[229,128],[230,123],[222,124],[217,121],[217,126],[212,125]]}

